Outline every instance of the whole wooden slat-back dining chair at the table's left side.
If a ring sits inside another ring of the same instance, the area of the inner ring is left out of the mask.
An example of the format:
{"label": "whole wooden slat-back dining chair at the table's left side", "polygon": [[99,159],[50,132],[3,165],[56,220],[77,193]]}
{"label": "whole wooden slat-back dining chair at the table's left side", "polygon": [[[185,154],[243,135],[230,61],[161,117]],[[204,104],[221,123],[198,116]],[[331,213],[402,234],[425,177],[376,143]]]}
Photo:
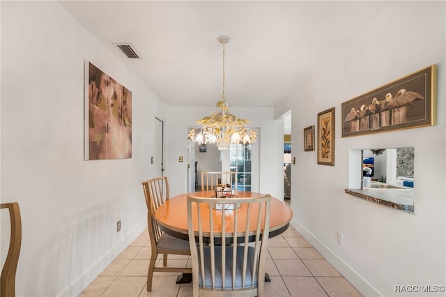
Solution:
{"label": "whole wooden slat-back dining chair at the table's left side", "polygon": [[[169,180],[166,176],[153,178],[142,183],[147,205],[148,235],[151,239],[151,261],[148,264],[147,291],[152,291],[154,272],[192,273],[192,268],[167,267],[168,254],[190,255],[189,242],[161,231],[154,217],[155,211],[169,199]],[[155,267],[158,254],[162,254],[162,267]]]}

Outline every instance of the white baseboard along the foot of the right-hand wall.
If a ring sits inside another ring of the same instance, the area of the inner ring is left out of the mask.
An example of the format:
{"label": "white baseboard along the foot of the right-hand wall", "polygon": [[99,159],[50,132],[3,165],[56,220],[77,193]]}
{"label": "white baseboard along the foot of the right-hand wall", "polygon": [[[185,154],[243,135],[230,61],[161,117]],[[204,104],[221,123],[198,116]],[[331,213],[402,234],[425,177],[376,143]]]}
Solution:
{"label": "white baseboard along the foot of the right-hand wall", "polygon": [[307,228],[303,227],[297,220],[291,220],[291,226],[294,227],[300,234],[302,234],[309,243],[311,243],[319,253],[327,259],[327,261],[334,266],[348,282],[360,291],[364,296],[383,296],[375,287],[373,287],[367,280],[364,279],[357,271],[351,266],[346,264],[337,254],[335,254],[330,248],[316,238]]}

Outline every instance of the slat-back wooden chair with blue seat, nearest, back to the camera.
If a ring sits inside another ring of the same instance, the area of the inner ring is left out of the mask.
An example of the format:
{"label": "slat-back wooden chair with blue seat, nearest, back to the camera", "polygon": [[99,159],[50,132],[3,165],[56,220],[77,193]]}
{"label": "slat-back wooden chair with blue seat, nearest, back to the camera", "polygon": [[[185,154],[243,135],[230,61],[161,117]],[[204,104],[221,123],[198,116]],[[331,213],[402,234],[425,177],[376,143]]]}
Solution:
{"label": "slat-back wooden chair with blue seat, nearest, back to the camera", "polygon": [[187,197],[194,297],[264,295],[270,201]]}

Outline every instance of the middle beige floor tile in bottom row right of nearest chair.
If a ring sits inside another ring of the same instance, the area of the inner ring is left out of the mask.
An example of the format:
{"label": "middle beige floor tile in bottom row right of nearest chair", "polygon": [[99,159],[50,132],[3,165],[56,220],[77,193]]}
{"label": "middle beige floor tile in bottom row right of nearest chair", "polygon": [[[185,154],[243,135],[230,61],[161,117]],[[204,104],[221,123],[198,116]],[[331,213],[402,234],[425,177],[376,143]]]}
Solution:
{"label": "middle beige floor tile in bottom row right of nearest chair", "polygon": [[327,297],[325,291],[314,277],[288,277],[284,282],[293,297]]}

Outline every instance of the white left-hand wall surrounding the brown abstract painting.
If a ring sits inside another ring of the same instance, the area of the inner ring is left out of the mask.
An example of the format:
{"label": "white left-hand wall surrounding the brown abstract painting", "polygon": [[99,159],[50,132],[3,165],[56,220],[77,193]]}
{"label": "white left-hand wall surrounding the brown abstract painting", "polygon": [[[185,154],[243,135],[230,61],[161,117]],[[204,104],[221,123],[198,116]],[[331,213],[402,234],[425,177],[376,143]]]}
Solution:
{"label": "white left-hand wall surrounding the brown abstract painting", "polygon": [[[132,91],[132,159],[84,161],[84,59]],[[56,1],[1,1],[1,74],[1,202],[22,212],[17,296],[77,296],[146,227],[141,181],[166,107]]]}

